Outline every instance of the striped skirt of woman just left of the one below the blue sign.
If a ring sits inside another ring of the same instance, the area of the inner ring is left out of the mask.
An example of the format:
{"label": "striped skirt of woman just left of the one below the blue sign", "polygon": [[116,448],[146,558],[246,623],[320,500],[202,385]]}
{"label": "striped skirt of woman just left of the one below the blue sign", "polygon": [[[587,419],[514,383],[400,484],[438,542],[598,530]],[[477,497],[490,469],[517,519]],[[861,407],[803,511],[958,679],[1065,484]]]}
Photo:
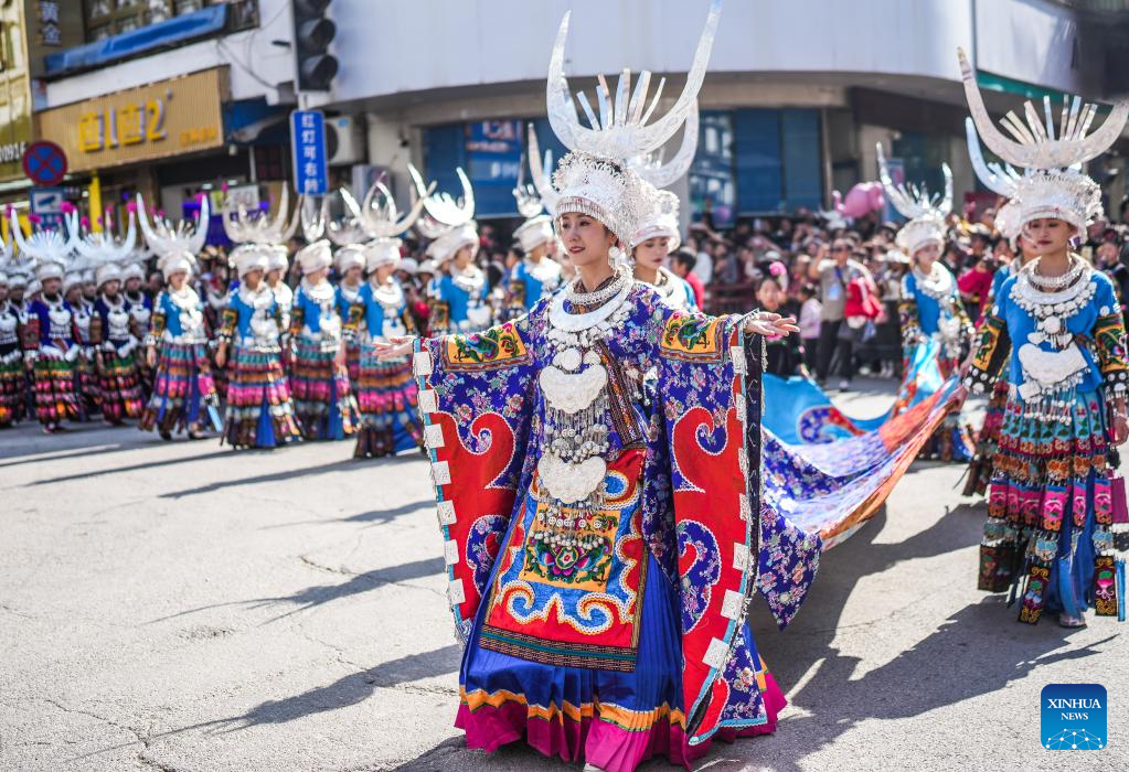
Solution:
{"label": "striped skirt of woman just left of the one below the blue sign", "polygon": [[301,437],[282,358],[273,351],[233,344],[227,410],[220,442],[236,448],[273,448]]}

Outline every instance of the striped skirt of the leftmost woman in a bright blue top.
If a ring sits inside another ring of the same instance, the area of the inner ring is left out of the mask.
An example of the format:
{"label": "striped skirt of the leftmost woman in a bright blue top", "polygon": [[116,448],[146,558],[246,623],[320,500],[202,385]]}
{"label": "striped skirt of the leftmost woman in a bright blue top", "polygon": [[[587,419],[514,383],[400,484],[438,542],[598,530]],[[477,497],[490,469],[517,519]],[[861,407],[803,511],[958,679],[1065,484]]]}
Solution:
{"label": "striped skirt of the leftmost woman in a bright blue top", "polygon": [[161,342],[152,396],[140,429],[157,428],[163,433],[184,430],[209,420],[218,405],[207,344]]}

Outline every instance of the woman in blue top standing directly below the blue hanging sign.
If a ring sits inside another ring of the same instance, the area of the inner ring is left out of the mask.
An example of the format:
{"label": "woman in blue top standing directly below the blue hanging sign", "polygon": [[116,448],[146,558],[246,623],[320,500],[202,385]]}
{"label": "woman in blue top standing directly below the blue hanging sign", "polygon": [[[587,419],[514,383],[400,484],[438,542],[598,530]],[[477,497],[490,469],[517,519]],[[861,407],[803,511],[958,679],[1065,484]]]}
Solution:
{"label": "woman in blue top standing directly below the blue hanging sign", "polygon": [[355,412],[342,348],[336,292],[325,278],[330,243],[314,242],[297,255],[303,279],[290,313],[290,389],[306,439],[343,439]]}

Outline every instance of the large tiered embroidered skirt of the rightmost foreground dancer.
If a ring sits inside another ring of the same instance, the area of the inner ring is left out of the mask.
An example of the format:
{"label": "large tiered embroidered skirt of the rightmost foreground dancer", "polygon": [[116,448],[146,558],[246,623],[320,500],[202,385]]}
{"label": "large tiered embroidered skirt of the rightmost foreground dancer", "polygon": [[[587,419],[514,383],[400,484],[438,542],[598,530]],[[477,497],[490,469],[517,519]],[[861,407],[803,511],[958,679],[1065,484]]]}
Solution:
{"label": "large tiered embroidered skirt of the rightmost foreground dancer", "polygon": [[1048,416],[1012,396],[998,442],[978,586],[1018,594],[1021,622],[1076,616],[1095,605],[1095,565],[1113,547],[1105,402],[1071,395]]}

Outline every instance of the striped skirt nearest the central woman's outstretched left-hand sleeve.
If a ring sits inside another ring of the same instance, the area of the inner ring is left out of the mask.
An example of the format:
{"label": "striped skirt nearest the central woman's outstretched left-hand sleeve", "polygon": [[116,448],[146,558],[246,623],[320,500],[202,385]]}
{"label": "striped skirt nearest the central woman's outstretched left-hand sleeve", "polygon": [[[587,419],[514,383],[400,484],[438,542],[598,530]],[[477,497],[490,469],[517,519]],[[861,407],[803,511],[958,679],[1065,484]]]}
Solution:
{"label": "striped skirt nearest the central woman's outstretched left-hand sleeve", "polygon": [[423,428],[415,395],[409,359],[380,361],[371,345],[364,345],[357,383],[360,409],[360,429],[353,451],[357,458],[376,458],[422,447]]}

